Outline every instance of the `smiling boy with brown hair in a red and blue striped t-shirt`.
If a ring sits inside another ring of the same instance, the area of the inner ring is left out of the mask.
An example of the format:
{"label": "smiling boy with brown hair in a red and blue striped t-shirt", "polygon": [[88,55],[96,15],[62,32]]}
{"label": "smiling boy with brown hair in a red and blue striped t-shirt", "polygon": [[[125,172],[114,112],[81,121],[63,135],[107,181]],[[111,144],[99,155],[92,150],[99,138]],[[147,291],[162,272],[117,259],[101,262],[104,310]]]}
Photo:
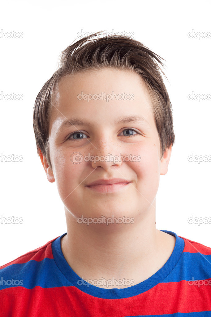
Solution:
{"label": "smiling boy with brown hair in a red and blue striped t-shirt", "polygon": [[34,105],[67,233],[0,268],[0,316],[210,316],[211,249],[155,227],[175,139],[161,58],[96,35],[62,52]]}

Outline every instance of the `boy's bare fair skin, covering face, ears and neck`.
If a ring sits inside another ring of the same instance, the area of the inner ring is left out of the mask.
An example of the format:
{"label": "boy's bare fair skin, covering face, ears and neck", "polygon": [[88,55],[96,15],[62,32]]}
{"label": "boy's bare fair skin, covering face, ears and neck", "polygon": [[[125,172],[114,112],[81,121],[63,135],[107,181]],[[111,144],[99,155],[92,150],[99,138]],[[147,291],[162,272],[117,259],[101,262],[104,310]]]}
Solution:
{"label": "boy's bare fair skin, covering face, ears and neck", "polygon": [[[134,94],[134,100],[92,99],[87,102],[77,99],[82,91],[84,94],[125,92]],[[147,122],[115,122],[137,115]],[[65,120],[73,122],[72,118],[87,123],[74,123],[60,129]],[[70,136],[77,130],[81,134]],[[134,280],[134,284],[156,273],[175,246],[173,236],[155,227],[159,176],[167,173],[171,147],[160,159],[151,101],[140,77],[133,72],[110,68],[63,77],[53,102],[49,145],[52,170],[41,152],[40,159],[49,182],[56,182],[65,206],[67,235],[61,241],[61,248],[73,271],[85,280],[114,277]],[[131,154],[141,156],[141,161],[83,160],[74,164],[70,159],[74,152],[83,157],[88,153],[93,156]],[[111,178],[126,179],[129,184],[113,190],[104,186],[102,192],[87,186],[93,181]],[[134,223],[91,223],[88,226],[77,222],[82,215],[87,218],[124,216],[134,218]],[[128,286],[109,288],[124,287]]]}

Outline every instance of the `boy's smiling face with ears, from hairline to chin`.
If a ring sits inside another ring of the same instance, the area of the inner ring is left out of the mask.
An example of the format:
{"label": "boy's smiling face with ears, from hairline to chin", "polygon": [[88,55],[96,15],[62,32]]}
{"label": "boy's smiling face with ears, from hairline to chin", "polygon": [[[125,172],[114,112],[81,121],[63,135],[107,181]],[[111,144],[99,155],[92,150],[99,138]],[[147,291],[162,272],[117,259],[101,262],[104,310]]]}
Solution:
{"label": "boy's smiling face with ears, from hairline to chin", "polygon": [[[134,98],[87,102],[87,99],[77,99],[82,91],[83,94],[133,94]],[[81,215],[99,218],[153,214],[159,175],[167,172],[171,148],[160,160],[151,102],[140,77],[133,72],[110,68],[65,76],[59,82],[53,105],[49,127],[52,170],[45,158],[43,164],[48,180],[56,181],[66,209],[77,218]],[[146,121],[118,123],[124,117],[133,116]],[[62,127],[67,120],[73,125]],[[70,136],[78,130],[81,134]],[[109,160],[109,154],[126,156],[126,159]],[[102,156],[102,161],[86,162],[84,157],[88,155]],[[133,159],[128,160],[128,157]],[[121,178],[126,183],[88,187],[94,181],[112,178]]]}

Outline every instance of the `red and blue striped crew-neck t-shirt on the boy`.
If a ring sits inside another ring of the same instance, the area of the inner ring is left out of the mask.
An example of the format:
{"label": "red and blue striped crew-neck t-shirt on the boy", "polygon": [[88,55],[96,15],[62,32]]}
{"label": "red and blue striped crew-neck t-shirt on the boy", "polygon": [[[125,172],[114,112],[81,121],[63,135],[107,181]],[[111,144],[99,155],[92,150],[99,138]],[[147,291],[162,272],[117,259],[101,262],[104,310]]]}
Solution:
{"label": "red and blue striped crew-neck t-shirt on the boy", "polygon": [[61,238],[0,267],[1,317],[211,316],[211,248],[177,236],[147,280],[126,288],[84,281],[66,262]]}

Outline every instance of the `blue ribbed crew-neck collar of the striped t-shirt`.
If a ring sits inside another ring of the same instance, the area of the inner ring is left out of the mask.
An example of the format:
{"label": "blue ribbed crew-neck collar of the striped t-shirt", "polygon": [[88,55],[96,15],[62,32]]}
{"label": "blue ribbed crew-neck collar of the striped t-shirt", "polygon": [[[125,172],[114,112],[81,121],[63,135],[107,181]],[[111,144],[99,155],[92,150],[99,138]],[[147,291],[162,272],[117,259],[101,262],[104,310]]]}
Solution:
{"label": "blue ribbed crew-neck collar of the striped t-shirt", "polygon": [[[64,233],[56,240],[52,242],[52,253],[54,261],[58,266],[61,273],[65,276],[65,278],[71,283],[72,286],[75,286],[82,292],[89,294],[94,297],[104,298],[104,299],[120,299],[136,296],[138,294],[144,293],[150,288],[153,288],[158,283],[164,280],[167,275],[171,273],[171,271],[176,266],[179,261],[183,249],[184,249],[184,240],[177,236],[176,233],[167,230],[160,230],[165,233],[170,234],[176,238],[174,249],[171,253],[171,256],[167,260],[167,262],[160,268],[155,274],[146,279],[145,281],[140,282],[139,284],[128,286],[126,288],[100,288],[94,286],[90,283],[84,281],[80,276],[78,276],[73,269],[70,267],[68,262],[65,260],[65,257],[62,253],[61,249],[61,238],[67,234]],[[80,285],[78,285],[80,284]]]}

